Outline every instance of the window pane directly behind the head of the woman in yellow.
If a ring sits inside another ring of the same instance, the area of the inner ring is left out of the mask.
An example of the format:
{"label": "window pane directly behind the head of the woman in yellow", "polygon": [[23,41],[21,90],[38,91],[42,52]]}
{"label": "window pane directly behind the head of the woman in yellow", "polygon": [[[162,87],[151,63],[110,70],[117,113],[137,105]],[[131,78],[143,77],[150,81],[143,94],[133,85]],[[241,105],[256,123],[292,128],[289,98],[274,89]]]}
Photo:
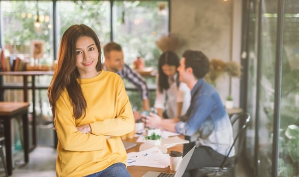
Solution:
{"label": "window pane directly behind the head of the woman in yellow", "polygon": [[91,27],[97,33],[101,47],[110,41],[110,1],[57,1],[56,9],[57,46],[63,33],[73,24]]}

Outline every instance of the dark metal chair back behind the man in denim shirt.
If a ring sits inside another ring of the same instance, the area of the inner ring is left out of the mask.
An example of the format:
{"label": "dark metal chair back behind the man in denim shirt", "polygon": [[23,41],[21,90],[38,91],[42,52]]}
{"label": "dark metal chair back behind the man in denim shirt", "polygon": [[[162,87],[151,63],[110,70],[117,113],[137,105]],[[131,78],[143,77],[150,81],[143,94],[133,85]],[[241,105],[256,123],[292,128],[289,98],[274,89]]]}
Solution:
{"label": "dark metal chair back behind the man in denim shirt", "polygon": [[[231,117],[233,118],[233,117]],[[231,120],[232,125],[234,125],[234,123],[236,121],[239,121],[239,125],[240,125],[240,129],[238,130],[238,133],[236,134],[232,145],[230,146],[230,149],[227,153],[227,155],[224,157],[221,165],[220,165],[220,169],[222,169],[224,167],[224,164],[226,162],[226,160],[229,157],[229,154],[231,152],[231,150],[233,149],[234,145],[236,144],[236,142],[238,141],[238,149],[235,155],[235,161],[234,163],[237,162],[238,156],[241,154],[241,151],[243,149],[243,145],[244,145],[244,140],[245,140],[245,133],[246,133],[246,128],[248,126],[248,123],[250,121],[250,114],[248,112],[243,112],[240,114],[235,115],[234,120]]]}

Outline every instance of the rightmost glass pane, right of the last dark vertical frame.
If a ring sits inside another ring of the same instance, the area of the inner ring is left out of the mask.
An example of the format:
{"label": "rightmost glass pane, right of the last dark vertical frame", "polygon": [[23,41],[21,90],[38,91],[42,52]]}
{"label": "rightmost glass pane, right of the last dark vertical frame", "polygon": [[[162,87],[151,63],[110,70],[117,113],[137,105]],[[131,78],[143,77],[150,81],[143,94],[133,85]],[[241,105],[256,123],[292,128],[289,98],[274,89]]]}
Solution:
{"label": "rightmost glass pane, right of the last dark vertical frame", "polygon": [[[285,1],[278,176],[299,176],[299,2]],[[297,80],[297,81],[296,81]]]}

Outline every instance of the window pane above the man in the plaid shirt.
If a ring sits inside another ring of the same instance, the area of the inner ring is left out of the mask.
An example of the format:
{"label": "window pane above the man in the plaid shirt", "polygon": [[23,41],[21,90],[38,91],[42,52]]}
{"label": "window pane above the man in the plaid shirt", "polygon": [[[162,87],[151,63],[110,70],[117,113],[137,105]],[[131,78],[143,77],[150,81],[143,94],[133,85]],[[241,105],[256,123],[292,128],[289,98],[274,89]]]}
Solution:
{"label": "window pane above the man in the plaid shirt", "polygon": [[117,1],[113,4],[113,41],[122,45],[125,63],[137,56],[147,66],[157,66],[161,54],[155,44],[168,33],[166,1]]}

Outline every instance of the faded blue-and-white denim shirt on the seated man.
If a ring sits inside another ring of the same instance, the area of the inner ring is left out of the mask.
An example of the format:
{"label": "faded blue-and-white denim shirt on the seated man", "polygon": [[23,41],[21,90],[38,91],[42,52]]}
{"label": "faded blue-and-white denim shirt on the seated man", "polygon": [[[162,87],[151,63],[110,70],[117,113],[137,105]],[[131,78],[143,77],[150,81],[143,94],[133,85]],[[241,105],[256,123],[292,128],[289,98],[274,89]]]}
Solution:
{"label": "faded blue-and-white denim shirt on the seated man", "polygon": [[[187,113],[175,125],[177,133],[195,137],[197,146],[212,147],[227,155],[233,143],[232,126],[216,89],[203,79],[198,79],[191,90],[191,104]],[[234,149],[230,157],[234,156]]]}

